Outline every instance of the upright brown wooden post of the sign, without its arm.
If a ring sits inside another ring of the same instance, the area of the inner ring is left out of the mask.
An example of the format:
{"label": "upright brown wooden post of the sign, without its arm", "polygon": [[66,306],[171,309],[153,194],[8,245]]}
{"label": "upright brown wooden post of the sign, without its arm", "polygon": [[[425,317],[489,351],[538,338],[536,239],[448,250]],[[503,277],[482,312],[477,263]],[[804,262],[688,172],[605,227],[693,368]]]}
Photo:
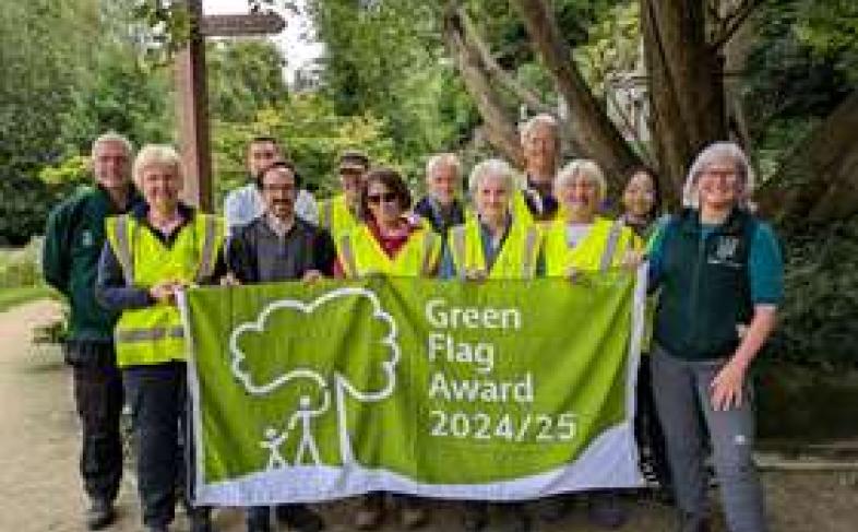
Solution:
{"label": "upright brown wooden post of the sign, without its arm", "polygon": [[213,212],[205,39],[199,31],[202,0],[184,1],[191,16],[191,35],[188,46],[176,55],[176,110],[186,172],[184,200],[203,212]]}

